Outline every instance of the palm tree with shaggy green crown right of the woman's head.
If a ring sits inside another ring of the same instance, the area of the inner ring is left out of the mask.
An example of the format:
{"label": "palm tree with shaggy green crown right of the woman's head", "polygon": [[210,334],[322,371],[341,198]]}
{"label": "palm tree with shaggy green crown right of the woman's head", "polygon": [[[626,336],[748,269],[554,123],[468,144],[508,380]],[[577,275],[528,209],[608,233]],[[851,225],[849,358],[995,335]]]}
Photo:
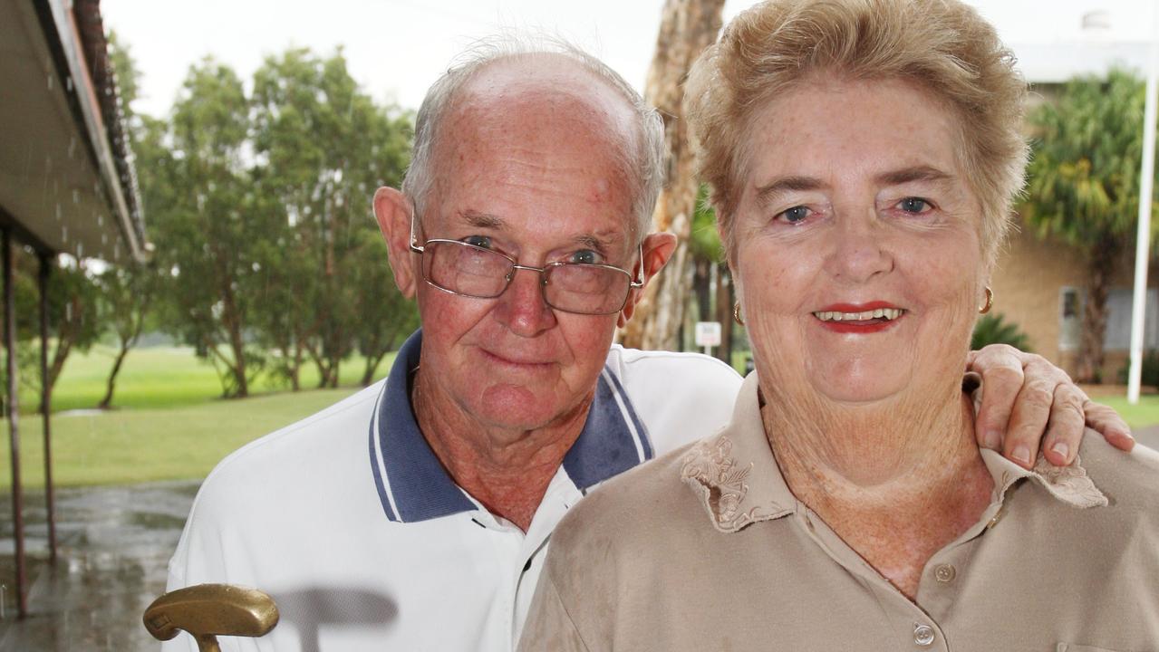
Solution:
{"label": "palm tree with shaggy green crown right of the woman's head", "polygon": [[1035,110],[1026,221],[1083,251],[1087,293],[1077,378],[1098,382],[1103,362],[1107,295],[1136,228],[1143,155],[1144,86],[1113,69],[1078,78],[1056,102]]}

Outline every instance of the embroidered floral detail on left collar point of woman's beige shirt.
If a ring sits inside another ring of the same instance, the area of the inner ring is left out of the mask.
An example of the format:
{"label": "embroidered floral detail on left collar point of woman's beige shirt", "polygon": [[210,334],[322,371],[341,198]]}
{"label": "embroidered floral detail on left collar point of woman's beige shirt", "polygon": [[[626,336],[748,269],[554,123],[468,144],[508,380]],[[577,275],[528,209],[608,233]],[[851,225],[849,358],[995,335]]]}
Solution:
{"label": "embroidered floral detail on left collar point of woman's beige shirt", "polygon": [[736,532],[771,515],[760,507],[741,513],[741,501],[749,492],[745,479],[752,463],[738,467],[731,453],[732,440],[727,435],[706,439],[688,450],[680,468],[680,478],[699,491],[714,523],[724,532]]}

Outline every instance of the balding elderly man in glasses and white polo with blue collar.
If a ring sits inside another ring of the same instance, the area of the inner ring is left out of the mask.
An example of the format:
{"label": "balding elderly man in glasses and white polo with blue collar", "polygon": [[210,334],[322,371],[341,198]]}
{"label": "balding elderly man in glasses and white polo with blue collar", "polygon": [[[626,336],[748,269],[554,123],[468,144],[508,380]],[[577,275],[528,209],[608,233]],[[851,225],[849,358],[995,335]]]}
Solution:
{"label": "balding elderly man in glasses and white polo with blue collar", "polygon": [[[511,650],[562,515],[678,433],[727,422],[729,367],[612,345],[676,247],[648,234],[662,129],[610,68],[554,50],[450,71],[418,113],[402,191],[376,195],[423,324],[387,380],[206,478],[170,588],[257,586],[282,610],[268,637],[226,649]],[[1077,449],[1083,397],[1065,375],[1034,360],[1012,408],[1021,359],[989,360],[983,431],[1007,431],[1013,411],[1006,450],[1029,460],[1055,397],[1047,447]]]}

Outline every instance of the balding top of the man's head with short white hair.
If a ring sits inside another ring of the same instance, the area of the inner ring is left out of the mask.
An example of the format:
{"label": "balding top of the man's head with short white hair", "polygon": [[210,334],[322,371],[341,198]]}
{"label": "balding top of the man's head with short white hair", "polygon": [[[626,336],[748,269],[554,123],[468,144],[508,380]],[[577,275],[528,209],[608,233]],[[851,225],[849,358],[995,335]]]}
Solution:
{"label": "balding top of the man's head with short white hair", "polygon": [[[628,197],[629,230],[648,232],[663,178],[658,115],[606,65],[557,41],[489,41],[467,53],[427,94],[418,111],[410,168],[402,190],[417,207],[455,183],[455,156],[473,147],[522,142],[559,145],[582,137],[603,147]],[[479,155],[478,149],[475,155]],[[460,170],[461,171],[461,170]]]}

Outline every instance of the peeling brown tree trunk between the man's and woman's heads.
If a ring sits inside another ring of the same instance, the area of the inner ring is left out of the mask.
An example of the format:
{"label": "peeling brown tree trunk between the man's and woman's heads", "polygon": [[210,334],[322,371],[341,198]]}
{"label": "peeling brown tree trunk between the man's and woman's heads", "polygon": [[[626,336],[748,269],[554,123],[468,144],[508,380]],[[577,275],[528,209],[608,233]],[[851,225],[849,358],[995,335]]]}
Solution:
{"label": "peeling brown tree trunk between the man's and woman's heads", "polygon": [[724,0],[665,0],[662,9],[656,54],[644,87],[644,97],[664,118],[666,141],[668,174],[653,225],[676,234],[677,246],[668,269],[648,284],[635,317],[621,331],[626,346],[679,349],[678,334],[692,283],[687,241],[698,189],[680,103],[688,68],[716,41],[723,8]]}

